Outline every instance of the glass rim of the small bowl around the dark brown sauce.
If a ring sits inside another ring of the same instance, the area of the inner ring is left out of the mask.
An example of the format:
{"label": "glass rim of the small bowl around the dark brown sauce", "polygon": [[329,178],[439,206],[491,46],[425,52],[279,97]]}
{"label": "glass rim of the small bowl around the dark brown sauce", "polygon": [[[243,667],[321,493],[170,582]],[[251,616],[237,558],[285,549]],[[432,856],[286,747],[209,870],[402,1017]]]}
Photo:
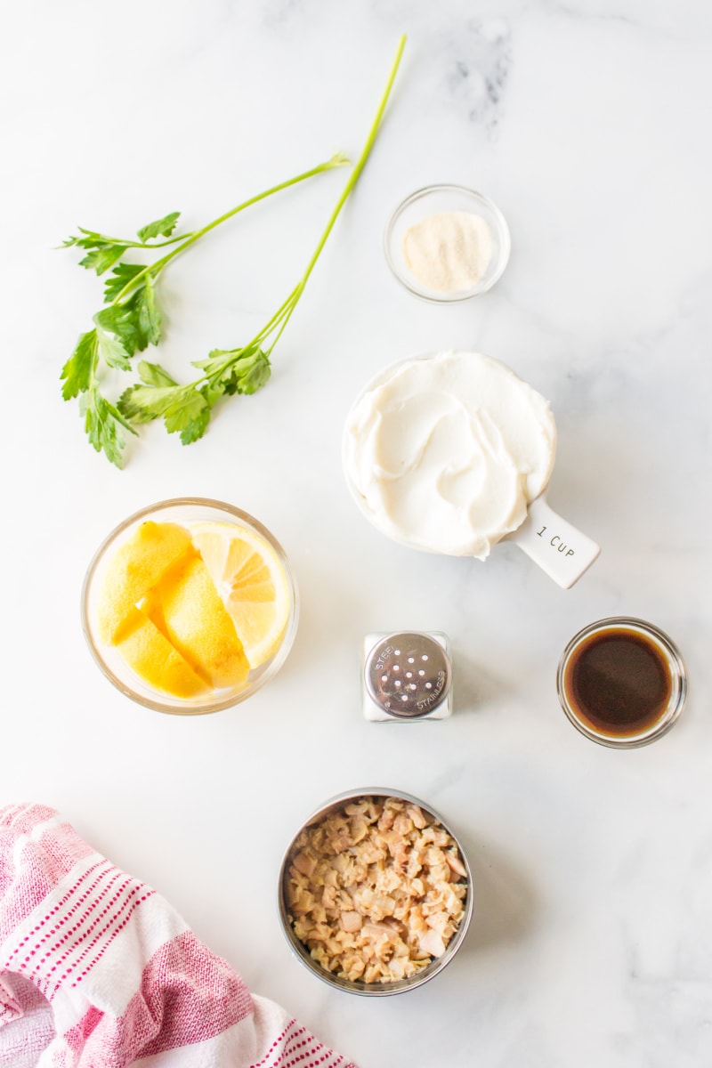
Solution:
{"label": "glass rim of the small bowl around the dark brown sauce", "polygon": [[[598,633],[599,631],[615,629],[637,630],[647,634],[653,640],[653,642],[662,647],[674,664],[674,671],[670,673],[673,676],[673,693],[670,695],[669,707],[666,709],[661,719],[656,723],[653,723],[653,725],[647,731],[643,731],[634,735],[628,735],[622,738],[615,738],[613,735],[605,735],[582,722],[575,711],[571,708],[566,697],[566,691],[564,688],[564,675],[569,659],[581,643],[591,634]],[[648,623],[647,619],[642,619],[636,616],[612,615],[606,616],[603,619],[596,619],[594,623],[589,623],[587,626],[582,627],[581,630],[576,631],[576,633],[566,644],[556,669],[556,692],[558,694],[559,704],[568,720],[586,738],[598,742],[600,745],[606,745],[608,749],[639,749],[642,745],[648,745],[650,742],[656,741],[659,738],[662,738],[663,735],[666,735],[667,732],[675,726],[682,709],[684,708],[687,698],[687,670],[685,668],[684,660],[682,659],[682,654],[676,643],[669,634],[667,634],[664,630],[661,630],[660,627],[656,627],[652,623]]]}

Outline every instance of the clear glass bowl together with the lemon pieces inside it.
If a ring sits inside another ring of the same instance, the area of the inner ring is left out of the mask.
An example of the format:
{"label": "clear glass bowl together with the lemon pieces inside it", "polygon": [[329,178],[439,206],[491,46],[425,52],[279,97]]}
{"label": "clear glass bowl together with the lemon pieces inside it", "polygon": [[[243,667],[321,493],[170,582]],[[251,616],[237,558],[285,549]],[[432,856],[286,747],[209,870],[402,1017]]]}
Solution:
{"label": "clear glass bowl together with the lemon pieces inside it", "polygon": [[299,595],[284,549],[223,501],[177,498],[102,541],[81,597],[92,655],[147,708],[196,716],[244,701],[287,658]]}

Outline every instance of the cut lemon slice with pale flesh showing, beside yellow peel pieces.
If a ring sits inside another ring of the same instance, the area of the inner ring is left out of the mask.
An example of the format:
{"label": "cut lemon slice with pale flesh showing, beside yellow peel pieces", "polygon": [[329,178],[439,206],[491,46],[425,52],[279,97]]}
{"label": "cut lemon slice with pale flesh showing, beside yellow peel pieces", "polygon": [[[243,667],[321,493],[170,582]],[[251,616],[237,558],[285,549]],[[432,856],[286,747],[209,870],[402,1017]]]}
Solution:
{"label": "cut lemon slice with pale flesh showing, beside yellow peel pieces", "polygon": [[289,618],[284,564],[265,538],[246,527],[195,523],[190,534],[233,617],[250,666],[258,668],[276,653]]}

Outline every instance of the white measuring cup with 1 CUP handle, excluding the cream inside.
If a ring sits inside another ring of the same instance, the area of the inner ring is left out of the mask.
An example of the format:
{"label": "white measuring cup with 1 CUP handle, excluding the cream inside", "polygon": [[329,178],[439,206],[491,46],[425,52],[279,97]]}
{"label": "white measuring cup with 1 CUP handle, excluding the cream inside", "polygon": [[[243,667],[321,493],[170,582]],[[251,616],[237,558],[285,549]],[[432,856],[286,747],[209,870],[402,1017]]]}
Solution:
{"label": "white measuring cup with 1 CUP handle, excluding the cream inside", "polygon": [[[373,525],[375,525],[378,530],[381,530],[381,532],[392,540],[396,540],[402,545],[421,550],[424,549],[422,545],[409,540],[407,536],[400,536],[391,530],[384,530],[384,528],[375,520],[373,513],[366,506],[363,493],[354,484],[349,473],[349,455],[351,449],[348,440],[348,434],[352,413],[369,391],[376,390],[379,386],[386,382],[390,376],[405,364],[409,364],[414,361],[428,360],[437,355],[438,354],[426,354],[424,356],[411,357],[408,360],[398,361],[398,363],[392,364],[379,372],[365,386],[353,402],[346,420],[343,442],[344,473],[347,486],[360,511]],[[507,368],[507,371],[509,371],[509,368]],[[548,484],[549,478],[547,478],[547,483],[541,488],[539,494],[528,503],[526,518],[524,521],[515,531],[505,534],[500,540],[513,541],[513,544],[519,546],[519,548],[526,553],[526,555],[533,560],[551,579],[553,579],[557,585],[564,590],[569,590],[581,578],[581,576],[588,570],[590,565],[598,557],[600,548],[596,541],[587,537],[587,535],[583,534],[581,531],[576,530],[572,523],[559,516],[549,505],[547,500]],[[439,550],[437,548],[426,548],[425,551],[442,551],[444,554],[447,554],[447,550]]]}

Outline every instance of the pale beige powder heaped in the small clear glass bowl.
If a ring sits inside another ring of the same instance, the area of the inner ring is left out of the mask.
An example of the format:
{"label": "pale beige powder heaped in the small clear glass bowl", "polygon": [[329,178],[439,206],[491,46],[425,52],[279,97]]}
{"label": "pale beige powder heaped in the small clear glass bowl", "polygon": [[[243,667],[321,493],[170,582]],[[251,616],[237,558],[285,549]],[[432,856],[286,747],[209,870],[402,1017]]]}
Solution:
{"label": "pale beige powder heaped in the small clear glass bowl", "polygon": [[492,258],[492,233],[473,211],[438,211],[404,234],[402,254],[415,279],[438,293],[471,289]]}

